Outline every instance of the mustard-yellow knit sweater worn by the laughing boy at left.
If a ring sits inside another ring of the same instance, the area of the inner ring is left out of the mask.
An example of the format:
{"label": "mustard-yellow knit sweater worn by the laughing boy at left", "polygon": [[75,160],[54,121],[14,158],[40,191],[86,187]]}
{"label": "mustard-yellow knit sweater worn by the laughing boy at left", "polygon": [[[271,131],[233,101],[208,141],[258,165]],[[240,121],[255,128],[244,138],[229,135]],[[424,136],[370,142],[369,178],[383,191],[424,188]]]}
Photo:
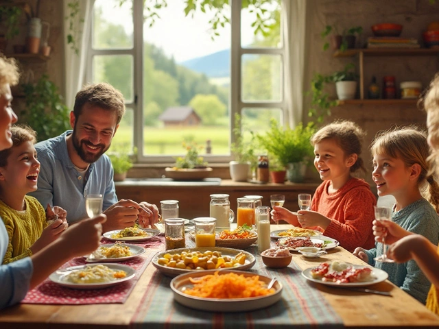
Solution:
{"label": "mustard-yellow knit sweater worn by the laughing boy at left", "polygon": [[3,264],[31,256],[29,247],[40,238],[47,226],[45,210],[37,199],[26,195],[25,206],[25,210],[18,211],[0,200],[0,217],[9,236]]}

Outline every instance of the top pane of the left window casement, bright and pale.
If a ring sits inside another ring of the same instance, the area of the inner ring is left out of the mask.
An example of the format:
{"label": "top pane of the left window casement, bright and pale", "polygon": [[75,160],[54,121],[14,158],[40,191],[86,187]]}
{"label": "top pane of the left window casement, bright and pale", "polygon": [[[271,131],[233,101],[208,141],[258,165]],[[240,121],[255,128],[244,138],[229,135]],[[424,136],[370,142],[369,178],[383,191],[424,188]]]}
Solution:
{"label": "top pane of the left window casement, bright and pale", "polygon": [[132,0],[95,1],[93,7],[94,49],[132,48],[133,27]]}

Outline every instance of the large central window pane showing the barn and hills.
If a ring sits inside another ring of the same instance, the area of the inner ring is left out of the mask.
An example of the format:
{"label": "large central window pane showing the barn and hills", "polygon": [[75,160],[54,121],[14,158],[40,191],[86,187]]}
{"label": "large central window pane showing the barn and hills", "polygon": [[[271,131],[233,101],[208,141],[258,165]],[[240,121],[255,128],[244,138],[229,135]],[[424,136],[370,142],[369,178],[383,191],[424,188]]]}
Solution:
{"label": "large central window pane showing the barn and hills", "polygon": [[213,13],[185,16],[186,2],[172,1],[143,25],[145,155],[183,154],[184,140],[211,140],[212,154],[229,154],[230,25],[212,40]]}

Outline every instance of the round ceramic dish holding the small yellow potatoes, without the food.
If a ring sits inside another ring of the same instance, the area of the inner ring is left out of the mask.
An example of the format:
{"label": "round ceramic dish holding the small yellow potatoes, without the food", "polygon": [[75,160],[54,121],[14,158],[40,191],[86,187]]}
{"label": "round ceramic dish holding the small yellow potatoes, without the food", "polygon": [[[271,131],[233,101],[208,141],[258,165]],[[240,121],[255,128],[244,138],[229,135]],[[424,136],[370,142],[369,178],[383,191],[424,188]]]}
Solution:
{"label": "round ceramic dish holding the small yellow potatoes, without the food", "polygon": [[[158,258],[162,258],[164,254],[181,254],[182,252],[206,252],[206,250],[211,250],[211,252],[221,252],[222,256],[233,256],[235,257],[237,254],[242,252],[246,255],[246,261],[244,265],[240,265],[239,267],[234,267],[237,270],[245,270],[250,269],[254,263],[256,262],[256,258],[250,252],[245,252],[244,250],[232,249],[232,248],[223,248],[223,247],[201,247],[201,248],[179,248],[179,249],[171,249],[165,250],[164,252],[158,252],[152,258],[152,265],[156,267],[159,271],[161,271],[165,276],[179,276],[184,273],[193,273],[193,272],[202,272],[205,273],[207,270],[198,270],[198,269],[178,269],[176,267],[167,267],[165,265],[158,264]],[[219,268],[217,271],[223,271],[224,269],[230,268]]]}

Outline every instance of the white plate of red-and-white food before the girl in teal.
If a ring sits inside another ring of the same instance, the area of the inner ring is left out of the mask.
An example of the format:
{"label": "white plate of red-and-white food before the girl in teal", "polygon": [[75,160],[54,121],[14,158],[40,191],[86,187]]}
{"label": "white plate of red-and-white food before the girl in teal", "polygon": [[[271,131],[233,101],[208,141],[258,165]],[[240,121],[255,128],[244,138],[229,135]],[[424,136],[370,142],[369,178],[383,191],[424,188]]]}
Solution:
{"label": "white plate of red-and-white food before the girl in teal", "polygon": [[328,286],[364,287],[386,280],[388,273],[375,267],[333,261],[305,269],[302,276]]}

